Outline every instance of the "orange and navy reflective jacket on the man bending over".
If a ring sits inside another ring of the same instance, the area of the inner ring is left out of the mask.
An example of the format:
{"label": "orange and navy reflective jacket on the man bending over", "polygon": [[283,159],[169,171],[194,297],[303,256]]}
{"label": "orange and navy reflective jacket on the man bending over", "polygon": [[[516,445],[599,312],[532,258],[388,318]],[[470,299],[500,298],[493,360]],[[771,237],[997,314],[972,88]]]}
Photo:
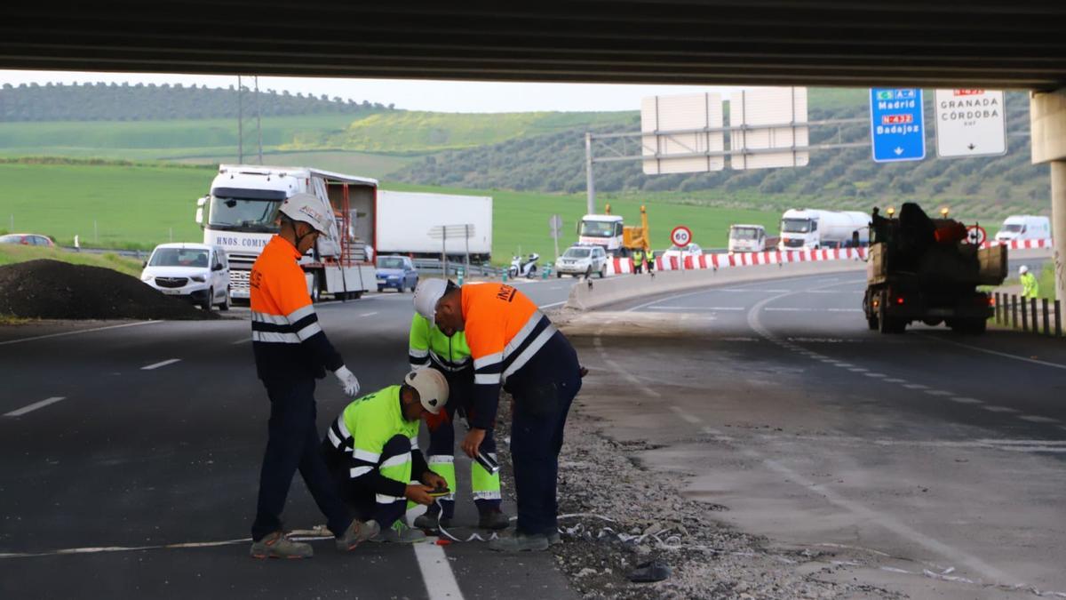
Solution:
{"label": "orange and navy reflective jacket on the man bending over", "polygon": [[461,293],[474,368],[470,426],[487,429],[496,417],[500,385],[526,366],[555,328],[528,296],[510,285],[464,285]]}

